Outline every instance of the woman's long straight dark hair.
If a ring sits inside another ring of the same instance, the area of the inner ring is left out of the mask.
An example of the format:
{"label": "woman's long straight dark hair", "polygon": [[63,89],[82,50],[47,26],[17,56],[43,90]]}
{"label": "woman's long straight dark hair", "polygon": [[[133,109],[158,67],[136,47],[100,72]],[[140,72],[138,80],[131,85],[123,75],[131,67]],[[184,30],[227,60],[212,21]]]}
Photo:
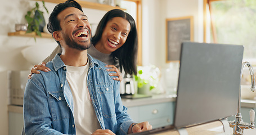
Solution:
{"label": "woman's long straight dark hair", "polygon": [[100,23],[97,26],[96,33],[92,37],[92,44],[96,44],[102,36],[102,32],[108,21],[114,17],[122,17],[127,20],[131,25],[131,31],[128,34],[128,37],[122,47],[118,50],[112,52],[113,60],[119,61],[120,70],[124,68],[125,73],[127,74],[137,74],[137,50],[138,50],[138,37],[136,24],[129,13],[122,10],[110,10],[107,12],[104,17],[101,19]]}

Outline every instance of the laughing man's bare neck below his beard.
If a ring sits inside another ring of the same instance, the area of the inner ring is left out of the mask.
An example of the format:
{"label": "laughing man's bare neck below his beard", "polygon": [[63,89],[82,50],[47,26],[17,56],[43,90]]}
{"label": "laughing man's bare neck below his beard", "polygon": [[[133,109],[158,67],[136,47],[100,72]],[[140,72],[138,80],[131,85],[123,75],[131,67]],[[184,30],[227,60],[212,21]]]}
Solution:
{"label": "laughing man's bare neck below his beard", "polygon": [[87,50],[62,50],[60,58],[64,62],[64,64],[68,66],[84,66],[88,62]]}

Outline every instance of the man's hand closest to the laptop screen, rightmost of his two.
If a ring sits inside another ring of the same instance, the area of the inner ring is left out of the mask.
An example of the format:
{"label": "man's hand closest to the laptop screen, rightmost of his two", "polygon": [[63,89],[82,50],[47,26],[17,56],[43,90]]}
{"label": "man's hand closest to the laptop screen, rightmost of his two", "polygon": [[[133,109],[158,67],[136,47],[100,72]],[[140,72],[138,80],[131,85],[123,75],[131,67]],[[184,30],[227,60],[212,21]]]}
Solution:
{"label": "man's hand closest to the laptop screen, rightmost of his two", "polygon": [[142,123],[138,123],[136,125],[132,124],[129,127],[129,132],[128,133],[138,133],[138,132],[143,132],[143,131],[149,131],[152,129],[152,125],[149,124],[149,122],[142,122]]}

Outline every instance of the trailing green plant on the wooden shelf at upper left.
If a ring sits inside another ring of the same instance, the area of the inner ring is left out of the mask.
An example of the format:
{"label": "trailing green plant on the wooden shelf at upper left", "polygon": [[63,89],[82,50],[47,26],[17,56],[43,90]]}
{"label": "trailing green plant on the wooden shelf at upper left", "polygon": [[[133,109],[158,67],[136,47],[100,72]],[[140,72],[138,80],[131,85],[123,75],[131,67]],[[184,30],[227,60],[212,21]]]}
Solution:
{"label": "trailing green plant on the wooden shelf at upper left", "polygon": [[[46,12],[49,13],[44,4],[44,1],[42,1],[42,3]],[[35,34],[42,37],[41,32],[43,32],[43,28],[46,25],[46,22],[43,17],[43,11],[39,9],[38,2],[35,2],[35,7],[26,13],[25,19],[28,21],[28,30],[26,30],[26,33],[32,33],[34,31]]]}

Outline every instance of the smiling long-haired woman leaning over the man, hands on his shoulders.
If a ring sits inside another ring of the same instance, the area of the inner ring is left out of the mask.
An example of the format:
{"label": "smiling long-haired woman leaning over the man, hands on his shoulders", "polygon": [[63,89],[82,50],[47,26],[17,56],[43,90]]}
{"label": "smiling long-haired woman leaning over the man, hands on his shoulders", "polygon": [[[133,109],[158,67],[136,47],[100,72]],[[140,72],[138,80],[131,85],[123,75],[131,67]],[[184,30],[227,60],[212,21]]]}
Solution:
{"label": "smiling long-haired woman leaning over the man, hands on his shoulders", "polygon": [[[137,29],[131,15],[122,10],[110,10],[101,19],[97,26],[95,36],[92,37],[92,46],[88,54],[96,59],[105,62],[109,71],[116,71],[110,74],[122,80],[120,71],[124,69],[126,74],[137,74]],[[51,61],[57,53],[61,53],[61,47],[57,46],[50,56],[40,65],[34,65],[29,78],[33,73],[50,71],[45,63]],[[120,70],[120,71],[119,71]]]}

